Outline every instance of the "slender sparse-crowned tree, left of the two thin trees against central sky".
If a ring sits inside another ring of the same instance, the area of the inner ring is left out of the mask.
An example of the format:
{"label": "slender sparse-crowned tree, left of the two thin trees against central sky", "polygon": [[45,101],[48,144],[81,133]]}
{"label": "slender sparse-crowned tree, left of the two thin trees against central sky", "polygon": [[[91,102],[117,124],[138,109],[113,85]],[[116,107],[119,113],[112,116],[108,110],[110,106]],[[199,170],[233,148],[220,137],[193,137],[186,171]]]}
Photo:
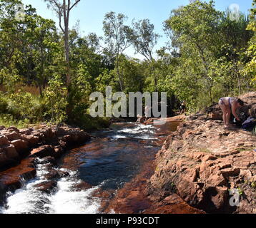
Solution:
{"label": "slender sparse-crowned tree, left of the two thin trees against central sky", "polygon": [[124,90],[124,78],[119,71],[119,63],[124,51],[131,45],[130,35],[131,28],[124,25],[127,16],[124,14],[116,14],[113,11],[104,16],[103,30],[105,35],[105,43],[108,46],[109,54],[114,57],[115,67],[121,91]]}

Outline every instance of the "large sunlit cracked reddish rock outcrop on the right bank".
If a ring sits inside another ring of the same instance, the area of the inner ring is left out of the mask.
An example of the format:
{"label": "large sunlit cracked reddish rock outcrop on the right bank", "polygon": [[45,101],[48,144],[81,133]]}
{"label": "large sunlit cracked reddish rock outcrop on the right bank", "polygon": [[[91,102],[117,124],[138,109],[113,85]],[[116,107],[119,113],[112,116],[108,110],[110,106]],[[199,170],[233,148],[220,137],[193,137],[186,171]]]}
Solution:
{"label": "large sunlit cracked reddish rock outcrop on the right bank", "polygon": [[256,213],[256,135],[250,132],[190,116],[167,137],[154,165],[145,192],[160,206],[177,194],[205,212]]}

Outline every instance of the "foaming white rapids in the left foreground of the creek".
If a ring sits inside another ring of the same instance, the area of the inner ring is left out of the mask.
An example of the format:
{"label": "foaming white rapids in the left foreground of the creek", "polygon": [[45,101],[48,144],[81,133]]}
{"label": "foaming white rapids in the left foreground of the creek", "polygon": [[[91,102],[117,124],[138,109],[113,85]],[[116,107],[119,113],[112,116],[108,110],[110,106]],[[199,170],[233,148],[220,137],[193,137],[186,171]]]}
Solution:
{"label": "foaming white rapids in the left foreground of the creek", "polygon": [[77,172],[69,172],[69,177],[63,177],[57,182],[57,191],[51,195],[36,190],[34,185],[44,182],[46,165],[37,165],[37,177],[13,194],[8,193],[5,207],[0,207],[3,214],[95,214],[98,213],[100,199],[92,197],[97,187],[77,191],[75,185],[81,180]]}

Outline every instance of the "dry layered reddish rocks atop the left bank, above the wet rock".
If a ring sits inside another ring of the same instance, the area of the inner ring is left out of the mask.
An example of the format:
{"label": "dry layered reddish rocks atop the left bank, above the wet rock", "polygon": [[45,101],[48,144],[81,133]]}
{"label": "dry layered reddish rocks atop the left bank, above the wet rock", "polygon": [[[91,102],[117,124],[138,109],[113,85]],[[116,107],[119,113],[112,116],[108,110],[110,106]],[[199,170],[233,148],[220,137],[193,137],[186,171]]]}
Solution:
{"label": "dry layered reddish rocks atop the left bank, above the wet rock", "polygon": [[41,125],[39,129],[0,126],[0,169],[18,165],[27,155],[59,157],[69,145],[86,142],[90,136],[79,128]]}

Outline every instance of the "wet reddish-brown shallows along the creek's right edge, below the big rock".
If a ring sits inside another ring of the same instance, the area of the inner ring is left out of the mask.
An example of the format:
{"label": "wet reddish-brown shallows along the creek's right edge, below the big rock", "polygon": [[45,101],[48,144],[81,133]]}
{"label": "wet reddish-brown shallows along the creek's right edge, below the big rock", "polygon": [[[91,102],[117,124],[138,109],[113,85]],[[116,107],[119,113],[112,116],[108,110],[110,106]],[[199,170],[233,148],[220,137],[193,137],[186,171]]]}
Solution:
{"label": "wet reddish-brown shallows along the creek's right edge, below the big rock", "polygon": [[[156,135],[168,135],[170,132],[177,130],[182,118],[174,117],[167,118],[167,123],[159,125],[159,130]],[[157,145],[162,145],[165,138],[159,138]],[[200,214],[204,213],[199,209],[195,209],[184,202],[178,195],[169,196],[169,199],[164,204],[151,202],[144,192],[147,187],[147,180],[154,173],[154,162],[151,160],[144,164],[142,172],[127,182],[122,189],[117,191],[114,198],[109,200],[109,197],[102,200],[102,211],[105,213],[114,212],[124,214]],[[101,195],[102,197],[102,195]]]}

